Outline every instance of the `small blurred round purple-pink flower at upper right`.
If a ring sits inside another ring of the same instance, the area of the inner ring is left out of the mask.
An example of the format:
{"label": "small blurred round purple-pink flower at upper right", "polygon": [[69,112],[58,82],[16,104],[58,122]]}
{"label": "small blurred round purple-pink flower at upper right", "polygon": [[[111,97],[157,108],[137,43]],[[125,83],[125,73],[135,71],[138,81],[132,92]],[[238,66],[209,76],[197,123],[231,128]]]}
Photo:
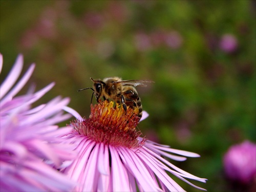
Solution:
{"label": "small blurred round purple-pink flower at upper right", "polygon": [[220,41],[220,48],[226,53],[232,53],[237,50],[238,41],[232,34],[225,34]]}

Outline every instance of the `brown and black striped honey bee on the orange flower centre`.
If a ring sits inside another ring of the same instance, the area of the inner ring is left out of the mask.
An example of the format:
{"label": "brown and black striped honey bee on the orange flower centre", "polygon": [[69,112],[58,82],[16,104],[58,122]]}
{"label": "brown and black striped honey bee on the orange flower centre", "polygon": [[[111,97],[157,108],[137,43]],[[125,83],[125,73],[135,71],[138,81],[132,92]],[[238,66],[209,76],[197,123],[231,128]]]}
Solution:
{"label": "brown and black striped honey bee on the orange flower centre", "polygon": [[145,83],[154,82],[151,80],[122,80],[119,77],[107,77],[103,80],[91,78],[91,80],[93,81],[93,88],[84,88],[78,91],[91,89],[97,102],[101,102],[101,98],[114,100],[116,103],[122,104],[125,112],[127,106],[130,106],[140,118],[142,116],[142,104],[135,87],[146,87]]}

